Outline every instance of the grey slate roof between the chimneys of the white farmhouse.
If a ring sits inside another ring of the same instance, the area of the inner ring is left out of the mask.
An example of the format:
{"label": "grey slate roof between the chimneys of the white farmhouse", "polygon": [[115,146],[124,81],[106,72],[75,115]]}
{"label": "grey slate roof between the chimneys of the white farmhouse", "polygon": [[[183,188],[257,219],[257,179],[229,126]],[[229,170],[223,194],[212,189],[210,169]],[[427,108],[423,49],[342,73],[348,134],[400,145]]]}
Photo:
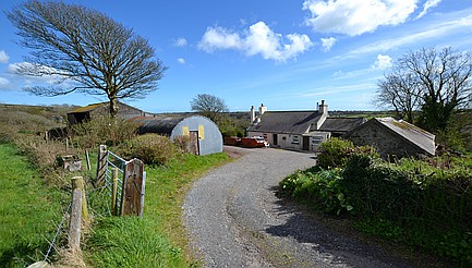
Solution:
{"label": "grey slate roof between the chimneys of the white farmhouse", "polygon": [[261,122],[251,125],[249,132],[303,134],[316,124],[322,114],[318,111],[266,111]]}

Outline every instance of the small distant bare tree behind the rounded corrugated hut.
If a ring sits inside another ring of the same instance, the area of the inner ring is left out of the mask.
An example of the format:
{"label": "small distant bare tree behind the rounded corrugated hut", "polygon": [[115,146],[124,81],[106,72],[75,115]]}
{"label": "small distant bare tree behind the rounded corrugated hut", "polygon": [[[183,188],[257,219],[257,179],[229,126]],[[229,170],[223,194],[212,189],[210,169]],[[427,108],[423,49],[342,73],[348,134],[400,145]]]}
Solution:
{"label": "small distant bare tree behind the rounded corrugated hut", "polygon": [[190,101],[190,105],[192,111],[196,111],[216,123],[219,123],[222,114],[229,110],[223,99],[209,94],[198,94]]}

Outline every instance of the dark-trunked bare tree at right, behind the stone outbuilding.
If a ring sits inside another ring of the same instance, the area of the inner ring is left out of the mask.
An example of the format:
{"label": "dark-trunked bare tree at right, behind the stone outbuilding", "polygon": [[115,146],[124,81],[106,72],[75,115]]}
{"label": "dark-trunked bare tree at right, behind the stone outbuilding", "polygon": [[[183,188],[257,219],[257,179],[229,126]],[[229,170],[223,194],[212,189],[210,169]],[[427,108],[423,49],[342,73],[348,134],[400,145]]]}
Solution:
{"label": "dark-trunked bare tree at right, behind the stone outbuilding", "polygon": [[[440,51],[423,48],[400,58],[392,72],[379,82],[378,101],[419,97],[420,124],[429,131],[445,131],[453,112],[470,105],[472,95],[472,54],[447,47]],[[402,93],[382,95],[383,87]]]}

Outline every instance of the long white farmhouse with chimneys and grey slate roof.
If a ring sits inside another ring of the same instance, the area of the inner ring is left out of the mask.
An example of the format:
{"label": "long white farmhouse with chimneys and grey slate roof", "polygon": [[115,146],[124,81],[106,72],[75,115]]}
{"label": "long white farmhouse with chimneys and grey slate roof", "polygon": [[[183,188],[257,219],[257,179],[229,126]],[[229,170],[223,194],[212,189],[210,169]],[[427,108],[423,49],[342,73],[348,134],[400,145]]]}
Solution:
{"label": "long white farmhouse with chimneys and grey slate roof", "polygon": [[323,100],[317,111],[267,111],[251,107],[247,136],[263,136],[271,147],[316,151],[319,144],[363,124],[364,118],[329,118]]}

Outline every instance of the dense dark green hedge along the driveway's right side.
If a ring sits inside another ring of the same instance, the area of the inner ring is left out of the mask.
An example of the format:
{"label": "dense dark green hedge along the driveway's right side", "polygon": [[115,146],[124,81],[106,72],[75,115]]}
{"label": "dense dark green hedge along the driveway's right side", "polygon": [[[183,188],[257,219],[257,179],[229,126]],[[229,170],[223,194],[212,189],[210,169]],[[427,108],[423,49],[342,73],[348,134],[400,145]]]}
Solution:
{"label": "dense dark green hedge along the driveway's right side", "polygon": [[[286,178],[280,193],[329,214],[343,214],[371,234],[472,266],[472,159],[451,156],[382,160],[335,139],[322,167]],[[326,149],[328,148],[328,149]]]}

